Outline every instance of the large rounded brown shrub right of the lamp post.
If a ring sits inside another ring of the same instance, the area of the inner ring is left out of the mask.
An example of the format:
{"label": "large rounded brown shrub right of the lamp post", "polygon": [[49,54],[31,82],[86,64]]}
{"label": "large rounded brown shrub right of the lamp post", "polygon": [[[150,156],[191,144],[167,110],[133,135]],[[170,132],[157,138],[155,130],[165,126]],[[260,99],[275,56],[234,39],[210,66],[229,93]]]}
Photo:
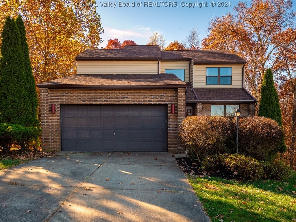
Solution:
{"label": "large rounded brown shrub right of the lamp post", "polygon": [[273,160],[283,139],[284,132],[275,120],[258,116],[239,119],[239,154],[259,161]]}

